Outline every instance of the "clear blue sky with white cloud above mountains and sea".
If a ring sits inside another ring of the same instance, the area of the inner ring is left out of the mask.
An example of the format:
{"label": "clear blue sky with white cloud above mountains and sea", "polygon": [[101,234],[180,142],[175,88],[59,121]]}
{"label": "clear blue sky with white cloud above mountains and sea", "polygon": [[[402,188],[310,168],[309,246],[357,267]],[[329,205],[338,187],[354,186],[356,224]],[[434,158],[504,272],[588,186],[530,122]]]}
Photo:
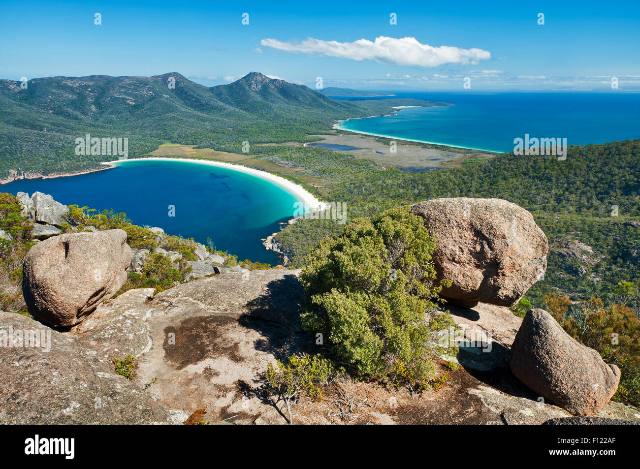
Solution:
{"label": "clear blue sky with white cloud above mountains and sea", "polygon": [[472,90],[611,91],[615,76],[620,91],[640,90],[637,0],[1,0],[0,11],[8,79],[180,72],[212,86],[257,71],[375,90],[455,91],[469,77]]}

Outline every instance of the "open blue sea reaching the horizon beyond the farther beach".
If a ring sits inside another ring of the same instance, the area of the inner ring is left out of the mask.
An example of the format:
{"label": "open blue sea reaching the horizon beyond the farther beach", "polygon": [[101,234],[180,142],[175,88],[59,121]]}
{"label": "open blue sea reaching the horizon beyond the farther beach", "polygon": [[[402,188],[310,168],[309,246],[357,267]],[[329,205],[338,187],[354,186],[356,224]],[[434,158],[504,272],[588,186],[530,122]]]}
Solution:
{"label": "open blue sea reaching the horizon beyond the farther beach", "polygon": [[344,121],[340,129],[494,152],[513,151],[513,139],[524,139],[525,134],[566,138],[568,145],[640,138],[640,93],[397,93],[396,97],[455,106],[405,107],[394,116]]}

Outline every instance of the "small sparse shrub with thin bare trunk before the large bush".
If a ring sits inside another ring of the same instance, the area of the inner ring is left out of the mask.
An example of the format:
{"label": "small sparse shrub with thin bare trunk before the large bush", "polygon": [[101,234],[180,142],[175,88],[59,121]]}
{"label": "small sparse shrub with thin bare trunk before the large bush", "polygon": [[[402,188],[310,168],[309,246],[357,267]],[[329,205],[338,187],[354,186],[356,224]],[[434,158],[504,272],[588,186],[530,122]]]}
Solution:
{"label": "small sparse shrub with thin bare trunk before the large bush", "polygon": [[289,424],[292,424],[291,404],[296,404],[304,395],[314,401],[322,399],[324,388],[333,374],[332,363],[322,355],[300,354],[290,356],[286,364],[278,360],[274,367],[269,363],[266,380],[269,387],[287,405]]}

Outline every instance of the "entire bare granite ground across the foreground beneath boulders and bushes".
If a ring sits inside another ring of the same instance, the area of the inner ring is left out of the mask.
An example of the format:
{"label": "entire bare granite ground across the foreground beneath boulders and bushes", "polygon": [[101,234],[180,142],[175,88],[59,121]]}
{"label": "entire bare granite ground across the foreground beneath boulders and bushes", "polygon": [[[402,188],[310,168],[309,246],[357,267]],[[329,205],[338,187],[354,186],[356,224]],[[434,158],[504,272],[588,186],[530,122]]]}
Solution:
{"label": "entire bare granite ground across the foreground beneath boulders and bushes", "polygon": [[[266,399],[262,374],[276,359],[320,351],[316,337],[300,333],[298,272],[222,273],[155,296],[153,289],[129,290],[64,334],[51,331],[49,354],[0,348],[0,376],[7,378],[0,383],[0,423],[287,423],[282,401]],[[484,303],[451,312],[470,340],[475,330],[492,331],[490,349],[461,346],[458,369],[438,364],[447,370],[447,385],[418,399],[404,388],[334,383],[346,395],[372,402],[358,409],[358,422],[540,424],[570,417],[538,402],[538,393],[509,372],[505,354],[519,317]],[[0,314],[0,342],[9,326],[49,330]],[[137,357],[132,381],[116,375],[111,364],[130,354]],[[294,423],[340,422],[328,417],[326,401],[301,402],[293,415]],[[637,421],[640,411],[609,402],[598,417]]]}

